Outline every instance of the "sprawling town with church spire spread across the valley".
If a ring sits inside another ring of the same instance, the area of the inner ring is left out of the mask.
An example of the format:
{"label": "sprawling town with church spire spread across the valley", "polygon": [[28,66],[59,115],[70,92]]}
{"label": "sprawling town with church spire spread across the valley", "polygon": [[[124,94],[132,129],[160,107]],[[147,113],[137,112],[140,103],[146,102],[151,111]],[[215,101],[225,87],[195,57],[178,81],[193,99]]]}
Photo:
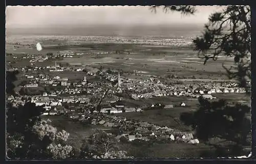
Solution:
{"label": "sprawling town with church spire spread across the valley", "polygon": [[[31,57],[28,55],[28,57]],[[33,57],[33,56],[32,56]],[[62,57],[68,58],[68,54],[62,54]],[[49,59],[51,57],[40,58]],[[34,60],[35,61],[35,60]],[[30,61],[31,62],[31,61]],[[40,62],[40,61],[38,61]],[[31,62],[32,63],[32,62]],[[161,104],[152,102],[151,104],[126,103],[130,101],[147,100],[153,97],[189,97],[204,99],[217,99],[212,94],[243,94],[244,88],[240,88],[235,82],[214,82],[191,84],[168,84],[168,78],[152,76],[148,79],[133,79],[124,77],[120,70],[94,70],[90,72],[86,68],[73,69],[70,66],[57,65],[46,67],[20,67],[10,68],[8,71],[20,71],[23,75],[20,80],[20,91],[16,96],[9,96],[7,101],[13,106],[24,105],[26,102],[35,103],[41,106],[42,116],[65,116],[68,119],[93,125],[108,127],[108,132],[113,133],[111,129],[118,129],[116,137],[127,141],[139,140],[164,140],[169,142],[186,142],[198,144],[191,132],[182,132],[174,127],[160,127],[140,120],[126,119],[125,117],[115,116],[118,113],[137,112],[143,113],[147,110],[172,110],[177,106],[186,106],[184,102],[176,104]],[[65,74],[52,75],[51,73],[38,73],[41,70],[47,72],[65,71],[82,72],[83,78],[72,80],[65,77]],[[134,70],[134,74],[139,74]],[[175,77],[173,77],[175,78]],[[33,88],[46,88],[45,91],[30,92]],[[51,89],[50,89],[51,88]],[[126,100],[126,101],[125,101]],[[123,141],[123,140],[121,140]]]}

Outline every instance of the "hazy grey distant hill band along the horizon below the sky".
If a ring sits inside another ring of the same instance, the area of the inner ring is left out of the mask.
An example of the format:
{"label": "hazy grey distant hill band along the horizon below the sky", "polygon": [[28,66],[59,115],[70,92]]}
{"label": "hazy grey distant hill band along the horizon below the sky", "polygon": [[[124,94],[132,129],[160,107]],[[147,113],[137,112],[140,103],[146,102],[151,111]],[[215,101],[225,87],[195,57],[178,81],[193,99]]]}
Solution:
{"label": "hazy grey distant hill band along the horizon below the sky", "polygon": [[130,36],[130,37],[192,37],[201,33],[197,25],[154,26],[54,26],[39,28],[7,28],[8,35],[78,35],[78,36]]}

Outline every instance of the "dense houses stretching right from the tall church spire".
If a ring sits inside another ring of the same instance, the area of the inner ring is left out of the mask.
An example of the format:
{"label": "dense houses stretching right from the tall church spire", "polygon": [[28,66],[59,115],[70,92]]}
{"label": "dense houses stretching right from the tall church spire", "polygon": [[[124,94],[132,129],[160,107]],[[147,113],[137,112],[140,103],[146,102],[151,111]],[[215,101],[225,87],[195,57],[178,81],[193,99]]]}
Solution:
{"label": "dense houses stretching right from the tall church spire", "polygon": [[229,83],[216,84],[215,86],[209,86],[209,84],[201,84],[198,86],[189,85],[164,85],[160,80],[154,80],[153,78],[140,81],[139,79],[123,78],[123,87],[131,93],[134,99],[139,98],[151,98],[159,96],[188,96],[198,98],[200,95],[206,94],[205,98],[213,99],[213,96],[209,96],[213,93],[245,93],[244,88],[238,88],[236,84]]}

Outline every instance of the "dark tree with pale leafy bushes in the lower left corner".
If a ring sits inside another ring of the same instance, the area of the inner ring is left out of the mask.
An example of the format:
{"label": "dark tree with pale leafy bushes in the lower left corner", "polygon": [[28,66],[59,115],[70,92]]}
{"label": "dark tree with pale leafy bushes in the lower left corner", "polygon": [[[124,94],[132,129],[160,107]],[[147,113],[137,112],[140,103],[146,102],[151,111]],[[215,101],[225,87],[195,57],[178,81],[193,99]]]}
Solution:
{"label": "dark tree with pale leafy bushes in the lower left corner", "polygon": [[50,120],[42,120],[43,108],[27,102],[7,105],[7,156],[11,159],[62,159],[72,157],[73,148],[65,144],[69,134],[57,131]]}

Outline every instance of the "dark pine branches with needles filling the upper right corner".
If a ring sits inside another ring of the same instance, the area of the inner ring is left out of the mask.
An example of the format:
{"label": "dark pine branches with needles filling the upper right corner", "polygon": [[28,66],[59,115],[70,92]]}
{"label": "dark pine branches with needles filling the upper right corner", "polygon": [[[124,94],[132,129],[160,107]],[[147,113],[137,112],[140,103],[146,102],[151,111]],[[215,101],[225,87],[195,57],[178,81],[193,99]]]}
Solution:
{"label": "dark pine branches with needles filling the upper right corner", "polygon": [[[202,37],[194,40],[199,58],[217,60],[220,55],[233,57],[234,66],[223,68],[229,78],[236,78],[241,87],[247,87],[250,71],[250,7],[228,6],[222,12],[209,16]],[[209,53],[208,53],[209,52]]]}

